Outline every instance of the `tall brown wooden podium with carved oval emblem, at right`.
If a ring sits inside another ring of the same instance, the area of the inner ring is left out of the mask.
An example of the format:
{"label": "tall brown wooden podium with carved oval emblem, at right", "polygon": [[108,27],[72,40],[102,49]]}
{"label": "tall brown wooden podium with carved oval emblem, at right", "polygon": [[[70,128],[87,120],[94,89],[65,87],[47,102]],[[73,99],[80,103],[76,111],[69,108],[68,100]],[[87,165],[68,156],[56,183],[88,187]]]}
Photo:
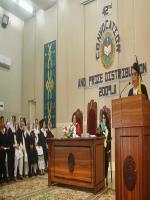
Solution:
{"label": "tall brown wooden podium with carved oval emblem, at right", "polygon": [[143,95],[112,101],[116,200],[150,199],[150,101]]}

